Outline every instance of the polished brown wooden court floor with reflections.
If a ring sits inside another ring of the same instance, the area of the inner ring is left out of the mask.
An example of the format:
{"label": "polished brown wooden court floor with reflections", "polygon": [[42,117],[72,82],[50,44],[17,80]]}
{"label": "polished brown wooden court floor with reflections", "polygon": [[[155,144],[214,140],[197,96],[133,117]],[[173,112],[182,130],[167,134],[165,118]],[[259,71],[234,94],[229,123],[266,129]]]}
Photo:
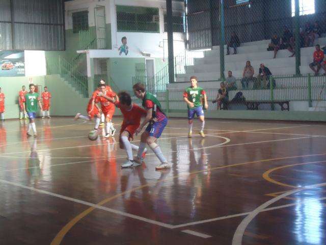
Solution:
{"label": "polished brown wooden court floor with reflections", "polygon": [[0,244],[326,244],[326,124],[170,119],[155,171],[89,122],[36,123],[0,127]]}

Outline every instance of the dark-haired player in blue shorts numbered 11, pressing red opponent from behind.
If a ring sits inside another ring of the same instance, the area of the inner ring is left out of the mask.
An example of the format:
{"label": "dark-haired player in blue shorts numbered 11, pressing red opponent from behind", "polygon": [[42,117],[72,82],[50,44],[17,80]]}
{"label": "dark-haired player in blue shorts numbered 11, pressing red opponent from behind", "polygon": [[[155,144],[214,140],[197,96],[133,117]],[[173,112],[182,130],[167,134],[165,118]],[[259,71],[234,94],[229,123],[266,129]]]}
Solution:
{"label": "dark-haired player in blue shorts numbered 11, pressing red opponent from behind", "polygon": [[137,158],[134,159],[135,162],[141,163],[142,162],[142,154],[145,150],[146,143],[155,153],[156,157],[161,162],[156,169],[164,169],[170,168],[170,164],[168,160],[163,156],[160,147],[158,146],[157,139],[162,134],[164,128],[168,124],[168,118],[162,112],[162,107],[156,97],[147,92],[145,89],[145,85],[142,83],[137,83],[132,86],[134,95],[136,95],[139,99],[143,100],[143,107],[146,109],[146,117],[141,126],[135,131],[135,134],[139,134],[144,126],[148,124],[146,130],[142,133],[141,143],[139,146],[139,151],[137,154]]}

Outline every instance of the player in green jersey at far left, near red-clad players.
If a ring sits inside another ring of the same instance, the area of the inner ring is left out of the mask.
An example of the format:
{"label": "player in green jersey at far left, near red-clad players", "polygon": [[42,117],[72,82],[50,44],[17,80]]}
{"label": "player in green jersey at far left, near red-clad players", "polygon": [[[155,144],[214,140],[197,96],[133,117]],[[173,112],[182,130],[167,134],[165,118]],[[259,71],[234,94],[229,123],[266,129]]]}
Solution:
{"label": "player in green jersey at far left, near red-clad players", "polygon": [[25,102],[24,102],[24,111],[27,112],[27,114],[30,118],[29,129],[27,131],[28,136],[32,136],[30,134],[31,129],[33,129],[34,137],[37,136],[34,120],[36,118],[36,112],[38,110],[38,105],[40,106],[40,108],[42,110],[41,98],[40,98],[39,94],[35,92],[35,85],[33,83],[31,83],[30,84],[30,92],[26,93]]}

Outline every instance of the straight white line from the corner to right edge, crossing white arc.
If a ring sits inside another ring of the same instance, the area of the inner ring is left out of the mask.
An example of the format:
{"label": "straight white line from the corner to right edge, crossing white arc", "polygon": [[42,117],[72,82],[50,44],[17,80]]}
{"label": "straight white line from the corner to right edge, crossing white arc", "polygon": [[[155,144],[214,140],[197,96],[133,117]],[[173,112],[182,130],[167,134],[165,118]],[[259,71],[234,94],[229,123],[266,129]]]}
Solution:
{"label": "straight white line from the corner to right edge, crossing white arc", "polygon": [[[261,212],[266,212],[266,211],[271,211],[271,210],[276,210],[276,209],[281,209],[281,208],[287,208],[287,207],[292,207],[292,206],[296,206],[296,205],[302,205],[302,204],[307,204],[309,202],[316,202],[316,201],[322,201],[322,200],[326,200],[326,197],[325,198],[313,199],[313,200],[307,200],[307,201],[299,201],[299,202],[296,202],[296,203],[290,203],[290,204],[275,206],[275,207],[271,207],[271,208],[265,208],[265,209],[261,210]],[[186,226],[195,226],[195,225],[210,223],[210,222],[223,220],[223,219],[228,219],[228,218],[244,216],[244,215],[248,215],[250,213],[251,212],[237,213],[237,214],[232,214],[232,215],[227,215],[227,216],[222,216],[222,217],[217,217],[217,218],[209,218],[209,219],[199,220],[199,221],[196,221],[196,222],[190,222],[190,223],[185,223],[185,224],[181,224],[181,225],[176,225],[176,226],[174,226],[174,229],[182,228],[182,227],[186,227]]]}

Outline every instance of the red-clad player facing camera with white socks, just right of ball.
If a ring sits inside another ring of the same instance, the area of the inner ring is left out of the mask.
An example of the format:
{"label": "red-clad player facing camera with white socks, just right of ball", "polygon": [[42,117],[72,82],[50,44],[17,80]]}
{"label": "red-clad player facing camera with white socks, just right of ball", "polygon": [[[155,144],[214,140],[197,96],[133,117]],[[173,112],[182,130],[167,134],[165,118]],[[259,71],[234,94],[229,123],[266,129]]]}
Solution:
{"label": "red-clad player facing camera with white socks, just right of ball", "polygon": [[95,104],[96,102],[101,104],[101,110],[105,116],[105,121],[106,121],[105,137],[108,138],[108,137],[114,136],[115,131],[116,131],[113,128],[112,122],[111,122],[116,107],[115,107],[114,103],[112,103],[108,99],[110,99],[110,98],[114,99],[114,97],[116,97],[116,99],[118,100],[118,98],[117,98],[117,95],[115,92],[113,92],[113,91],[109,92],[106,90],[105,84],[99,84],[99,89],[100,90],[99,90],[99,92],[97,92],[95,99],[93,99],[93,97],[92,97],[92,99],[93,99],[93,104]]}

